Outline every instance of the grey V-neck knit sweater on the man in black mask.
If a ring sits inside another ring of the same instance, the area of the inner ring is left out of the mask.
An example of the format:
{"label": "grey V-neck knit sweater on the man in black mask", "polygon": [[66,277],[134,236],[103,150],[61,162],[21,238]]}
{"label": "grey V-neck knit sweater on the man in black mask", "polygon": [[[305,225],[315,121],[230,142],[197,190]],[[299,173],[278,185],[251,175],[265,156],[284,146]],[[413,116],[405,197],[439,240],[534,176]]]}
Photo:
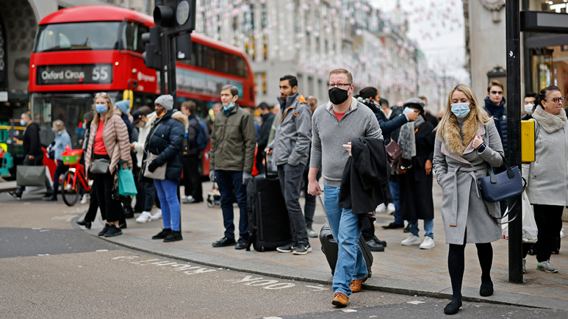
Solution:
{"label": "grey V-neck knit sweater on the man in black mask", "polygon": [[312,134],[310,167],[321,166],[324,184],[332,187],[341,185],[349,159],[349,153],[341,145],[361,136],[383,138],[373,111],[354,98],[340,121],[333,114],[331,102],[318,106],[312,116]]}

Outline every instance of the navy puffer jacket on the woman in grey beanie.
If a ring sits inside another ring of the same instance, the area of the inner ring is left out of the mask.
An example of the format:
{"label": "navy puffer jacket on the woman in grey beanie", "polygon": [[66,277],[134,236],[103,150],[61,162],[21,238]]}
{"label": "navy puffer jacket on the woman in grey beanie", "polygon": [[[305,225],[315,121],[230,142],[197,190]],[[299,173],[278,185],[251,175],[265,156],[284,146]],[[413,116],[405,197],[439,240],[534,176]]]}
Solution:
{"label": "navy puffer jacket on the woman in grey beanie", "polygon": [[164,116],[154,120],[144,145],[143,162],[148,152],[157,155],[154,162],[158,166],[168,163],[166,179],[178,183],[183,171],[182,148],[187,121],[187,116],[182,112],[177,110],[166,112]]}

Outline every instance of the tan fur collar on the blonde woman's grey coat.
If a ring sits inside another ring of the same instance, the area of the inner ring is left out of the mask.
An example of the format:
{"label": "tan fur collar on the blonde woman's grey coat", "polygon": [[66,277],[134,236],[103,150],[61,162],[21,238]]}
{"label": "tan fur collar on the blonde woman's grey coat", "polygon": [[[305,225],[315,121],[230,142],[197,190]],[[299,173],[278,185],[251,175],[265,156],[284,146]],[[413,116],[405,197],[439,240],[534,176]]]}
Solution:
{"label": "tan fur collar on the blonde woman's grey coat", "polygon": [[463,155],[463,151],[467,148],[467,145],[469,145],[471,140],[473,140],[477,133],[477,129],[479,128],[479,124],[477,122],[477,108],[471,108],[467,119],[463,122],[461,131],[456,115],[450,115],[448,124],[450,125],[444,125],[442,139],[450,152],[461,156]]}

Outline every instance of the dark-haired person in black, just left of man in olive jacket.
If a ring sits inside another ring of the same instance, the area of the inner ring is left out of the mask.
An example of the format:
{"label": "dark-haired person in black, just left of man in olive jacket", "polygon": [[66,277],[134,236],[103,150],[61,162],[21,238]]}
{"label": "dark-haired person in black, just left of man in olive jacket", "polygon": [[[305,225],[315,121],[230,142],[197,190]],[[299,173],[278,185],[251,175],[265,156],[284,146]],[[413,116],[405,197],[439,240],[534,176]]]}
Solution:
{"label": "dark-haired person in black, just left of man in olive jacket", "polygon": [[185,188],[183,194],[185,194],[185,199],[182,198],[182,200],[184,204],[203,202],[203,188],[201,187],[201,175],[199,175],[202,153],[197,146],[199,119],[195,116],[195,111],[195,102],[186,101],[181,104],[181,112],[189,119],[183,147],[183,186]]}

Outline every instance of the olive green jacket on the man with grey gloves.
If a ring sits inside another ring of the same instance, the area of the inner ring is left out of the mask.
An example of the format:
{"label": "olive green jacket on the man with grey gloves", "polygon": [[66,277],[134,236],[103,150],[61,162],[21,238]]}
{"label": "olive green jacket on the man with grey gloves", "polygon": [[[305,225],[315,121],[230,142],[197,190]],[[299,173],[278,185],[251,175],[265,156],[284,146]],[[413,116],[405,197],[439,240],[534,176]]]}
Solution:
{"label": "olive green jacket on the man with grey gloves", "polygon": [[255,148],[254,119],[247,110],[236,105],[228,116],[223,109],[215,115],[211,132],[210,170],[252,173]]}

